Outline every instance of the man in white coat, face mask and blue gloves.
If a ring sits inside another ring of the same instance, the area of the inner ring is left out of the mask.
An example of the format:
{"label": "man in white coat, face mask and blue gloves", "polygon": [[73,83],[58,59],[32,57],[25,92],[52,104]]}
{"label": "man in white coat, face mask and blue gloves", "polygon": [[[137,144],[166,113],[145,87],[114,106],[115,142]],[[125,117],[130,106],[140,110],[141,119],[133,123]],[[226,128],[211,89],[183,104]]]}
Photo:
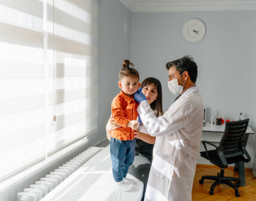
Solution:
{"label": "man in white coat, face mask and blue gloves", "polygon": [[191,56],[166,63],[169,90],[179,95],[158,118],[141,91],[134,99],[143,122],[140,131],[156,136],[144,201],[189,201],[202,136],[201,95],[195,82],[197,64]]}

